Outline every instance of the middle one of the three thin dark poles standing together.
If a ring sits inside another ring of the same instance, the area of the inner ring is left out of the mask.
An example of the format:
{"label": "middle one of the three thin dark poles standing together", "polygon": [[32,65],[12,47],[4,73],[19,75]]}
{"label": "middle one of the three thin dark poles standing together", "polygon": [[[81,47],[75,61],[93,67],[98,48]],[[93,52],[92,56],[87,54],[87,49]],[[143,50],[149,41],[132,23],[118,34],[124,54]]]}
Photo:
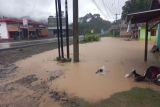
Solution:
{"label": "middle one of the three thin dark poles standing together", "polygon": [[63,32],[62,32],[62,10],[61,10],[61,0],[58,0],[58,11],[59,11],[59,24],[60,24],[60,36],[61,36],[61,57],[64,58],[63,51]]}

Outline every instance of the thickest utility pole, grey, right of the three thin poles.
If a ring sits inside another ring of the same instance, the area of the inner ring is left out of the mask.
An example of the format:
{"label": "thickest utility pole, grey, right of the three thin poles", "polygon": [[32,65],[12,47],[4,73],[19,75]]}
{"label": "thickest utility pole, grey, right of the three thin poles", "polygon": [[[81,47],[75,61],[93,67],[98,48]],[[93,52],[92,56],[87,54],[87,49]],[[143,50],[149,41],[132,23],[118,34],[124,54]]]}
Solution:
{"label": "thickest utility pole, grey, right of the three thin poles", "polygon": [[73,57],[79,62],[78,0],[73,0]]}

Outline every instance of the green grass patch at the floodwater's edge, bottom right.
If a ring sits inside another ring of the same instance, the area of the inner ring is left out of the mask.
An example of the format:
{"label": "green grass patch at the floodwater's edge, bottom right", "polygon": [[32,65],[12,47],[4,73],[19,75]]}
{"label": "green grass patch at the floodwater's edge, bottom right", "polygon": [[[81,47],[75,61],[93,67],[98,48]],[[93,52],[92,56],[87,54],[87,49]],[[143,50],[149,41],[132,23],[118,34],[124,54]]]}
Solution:
{"label": "green grass patch at the floodwater's edge, bottom right", "polygon": [[109,99],[91,104],[82,99],[74,99],[79,107],[159,107],[160,92],[151,89],[133,88],[116,93]]}

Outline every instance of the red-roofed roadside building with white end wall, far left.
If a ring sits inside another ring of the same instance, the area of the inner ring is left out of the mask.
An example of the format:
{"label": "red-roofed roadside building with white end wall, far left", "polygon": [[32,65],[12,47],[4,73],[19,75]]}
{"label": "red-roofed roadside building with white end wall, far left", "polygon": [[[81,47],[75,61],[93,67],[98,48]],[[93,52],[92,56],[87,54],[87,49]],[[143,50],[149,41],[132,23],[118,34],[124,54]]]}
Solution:
{"label": "red-roofed roadside building with white end wall, far left", "polygon": [[0,18],[0,40],[38,39],[48,36],[46,25],[27,19]]}

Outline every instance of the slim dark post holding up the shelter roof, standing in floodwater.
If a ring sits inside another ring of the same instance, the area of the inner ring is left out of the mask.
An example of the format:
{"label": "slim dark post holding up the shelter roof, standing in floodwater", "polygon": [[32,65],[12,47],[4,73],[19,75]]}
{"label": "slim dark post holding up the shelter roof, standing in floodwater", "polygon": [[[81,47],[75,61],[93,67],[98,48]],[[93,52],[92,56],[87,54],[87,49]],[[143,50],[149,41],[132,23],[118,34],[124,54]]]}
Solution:
{"label": "slim dark post holding up the shelter roof, standing in floodwater", "polygon": [[146,22],[146,33],[145,33],[145,52],[144,52],[144,61],[147,62],[148,59],[148,21]]}

